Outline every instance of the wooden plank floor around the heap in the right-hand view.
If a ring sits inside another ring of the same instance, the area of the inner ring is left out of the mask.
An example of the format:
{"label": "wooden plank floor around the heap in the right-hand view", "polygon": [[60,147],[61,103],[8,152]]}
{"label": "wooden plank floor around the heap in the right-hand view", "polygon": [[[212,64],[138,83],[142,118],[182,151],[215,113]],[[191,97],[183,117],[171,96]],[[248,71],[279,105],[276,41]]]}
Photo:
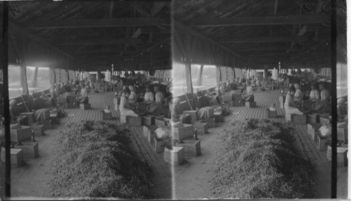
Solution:
{"label": "wooden plank floor around the heap in the right-hand view", "polygon": [[[175,196],[176,199],[196,199],[216,197],[211,193],[208,182],[214,176],[212,171],[215,161],[215,151],[218,147],[216,136],[225,127],[226,122],[246,118],[267,118],[266,108],[271,103],[277,105],[278,121],[284,121],[284,111],[279,108],[279,90],[255,93],[257,108],[235,107],[230,108],[231,115],[225,117],[225,122],[216,123],[216,128],[208,129],[208,134],[199,135],[201,141],[201,155],[187,157],[187,162],[175,168]],[[295,125],[297,131],[296,143],[300,153],[308,157],[315,167],[314,191],[318,193],[315,198],[329,198],[331,196],[331,163],[326,159],[325,153],[317,150],[317,145],[307,134],[307,124]],[[347,197],[347,167],[338,169],[338,197]]]}

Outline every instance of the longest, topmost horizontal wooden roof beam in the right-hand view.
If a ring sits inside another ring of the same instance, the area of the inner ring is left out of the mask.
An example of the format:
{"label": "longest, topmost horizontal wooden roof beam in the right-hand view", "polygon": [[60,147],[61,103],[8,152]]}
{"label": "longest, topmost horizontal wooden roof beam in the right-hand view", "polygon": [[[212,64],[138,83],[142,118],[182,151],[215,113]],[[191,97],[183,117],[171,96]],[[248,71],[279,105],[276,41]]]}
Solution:
{"label": "longest, topmost horizontal wooden roof beam in the right-hand view", "polygon": [[316,24],[330,23],[327,15],[288,15],[267,17],[245,17],[245,18],[216,18],[193,21],[190,27],[232,27],[249,25],[294,25],[294,24]]}

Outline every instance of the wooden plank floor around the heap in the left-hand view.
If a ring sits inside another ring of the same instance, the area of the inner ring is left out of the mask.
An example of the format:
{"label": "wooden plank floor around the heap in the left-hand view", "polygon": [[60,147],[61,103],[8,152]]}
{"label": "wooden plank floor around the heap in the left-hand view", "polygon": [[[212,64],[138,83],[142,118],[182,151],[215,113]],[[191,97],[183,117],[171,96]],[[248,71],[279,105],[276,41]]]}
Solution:
{"label": "wooden plank floor around the heap in the left-hand view", "polygon": [[[81,122],[84,120],[102,120],[101,110],[106,105],[114,108],[113,93],[89,94],[91,110],[80,110],[79,108],[66,109],[67,116],[60,119],[60,124],[54,129],[45,131],[45,136],[36,138],[39,143],[39,157],[25,160],[25,166],[11,169],[11,197],[51,197],[48,182],[53,179],[51,174],[51,155],[57,149],[53,143],[56,131],[69,122]],[[117,112],[112,111],[112,120],[109,122],[119,124]],[[171,167],[163,160],[162,153],[155,153],[152,145],[143,136],[142,127],[131,127],[132,145],[135,153],[142,160],[146,160],[154,172],[154,192],[159,198],[169,199],[172,197]]]}

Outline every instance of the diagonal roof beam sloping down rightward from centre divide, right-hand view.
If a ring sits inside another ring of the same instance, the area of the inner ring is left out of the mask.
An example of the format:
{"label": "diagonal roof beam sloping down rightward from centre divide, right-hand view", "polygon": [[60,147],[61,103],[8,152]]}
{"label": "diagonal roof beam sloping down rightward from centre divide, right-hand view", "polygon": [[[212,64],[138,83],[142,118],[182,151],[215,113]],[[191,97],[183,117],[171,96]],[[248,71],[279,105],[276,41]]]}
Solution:
{"label": "diagonal roof beam sloping down rightward from centre divide, right-hand view", "polygon": [[204,41],[207,41],[208,43],[213,44],[214,46],[218,46],[218,47],[222,48],[223,50],[228,51],[228,52],[234,54],[235,56],[241,58],[241,56],[238,53],[232,51],[230,48],[227,48],[223,44],[220,44],[218,41],[215,41],[209,37],[206,37],[204,34],[201,34],[197,31],[193,30],[192,28],[183,25],[182,23],[178,22],[177,20],[173,20],[173,25],[175,26],[175,28],[177,28],[181,32],[187,32],[188,34],[192,34],[194,37],[198,37],[199,39],[203,39]]}

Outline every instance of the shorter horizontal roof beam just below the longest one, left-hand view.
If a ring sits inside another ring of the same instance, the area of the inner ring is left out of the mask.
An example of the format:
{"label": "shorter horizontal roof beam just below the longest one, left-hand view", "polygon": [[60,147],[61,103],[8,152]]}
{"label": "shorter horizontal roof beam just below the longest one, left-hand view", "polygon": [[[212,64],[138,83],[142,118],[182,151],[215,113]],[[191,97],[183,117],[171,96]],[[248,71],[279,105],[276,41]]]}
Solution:
{"label": "shorter horizontal roof beam just below the longest one, left-hand view", "polygon": [[146,44],[143,39],[77,39],[63,41],[58,45],[110,45],[110,44]]}

